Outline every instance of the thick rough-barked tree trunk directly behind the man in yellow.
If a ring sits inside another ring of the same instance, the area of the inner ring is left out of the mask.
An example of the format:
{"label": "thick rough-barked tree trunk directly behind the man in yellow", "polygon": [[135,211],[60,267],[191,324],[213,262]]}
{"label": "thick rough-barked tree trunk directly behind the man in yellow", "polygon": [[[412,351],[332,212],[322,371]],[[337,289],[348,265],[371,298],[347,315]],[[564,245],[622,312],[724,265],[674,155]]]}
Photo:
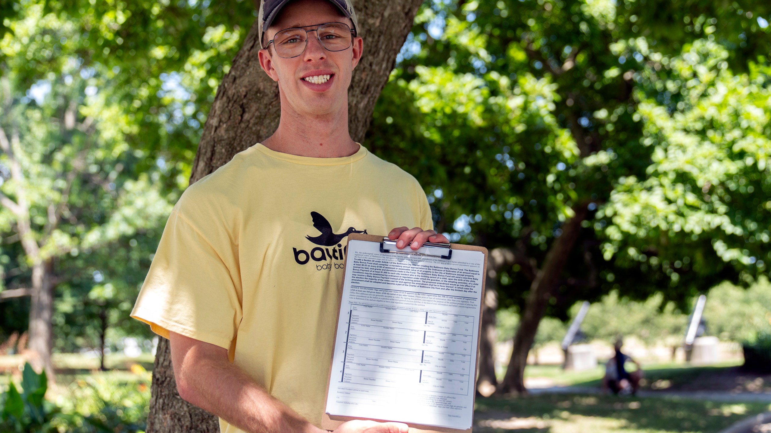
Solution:
{"label": "thick rough-barked tree trunk directly behind the man in yellow", "polygon": [[[396,62],[421,0],[355,1],[364,55],[353,72],[348,90],[348,128],[361,142],[372,110]],[[258,25],[224,77],[204,125],[204,133],[190,174],[190,183],[217,170],[236,154],[268,138],[278,127],[281,106],[278,86],[260,68]],[[169,342],[158,341],[148,433],[219,431],[217,418],[183,401],[177,394]]]}

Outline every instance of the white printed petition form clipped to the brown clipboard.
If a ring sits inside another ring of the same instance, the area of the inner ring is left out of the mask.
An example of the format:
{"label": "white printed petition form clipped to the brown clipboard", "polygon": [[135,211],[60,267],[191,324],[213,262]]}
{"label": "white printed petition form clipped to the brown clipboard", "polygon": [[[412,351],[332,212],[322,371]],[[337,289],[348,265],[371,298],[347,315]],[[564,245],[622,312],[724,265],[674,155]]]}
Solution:
{"label": "white printed petition form clipped to the brown clipboard", "polygon": [[471,428],[484,253],[379,247],[348,242],[327,414]]}

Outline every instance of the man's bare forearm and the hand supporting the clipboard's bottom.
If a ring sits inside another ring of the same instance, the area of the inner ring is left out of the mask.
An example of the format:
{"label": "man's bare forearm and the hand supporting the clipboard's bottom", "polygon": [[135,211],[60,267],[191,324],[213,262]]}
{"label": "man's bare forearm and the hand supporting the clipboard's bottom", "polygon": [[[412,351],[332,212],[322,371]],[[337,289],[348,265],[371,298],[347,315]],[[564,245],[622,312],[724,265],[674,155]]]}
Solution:
{"label": "man's bare forearm and the hand supporting the clipboard's bottom", "polygon": [[[180,397],[250,433],[322,433],[227,359],[227,350],[170,332]],[[407,433],[396,422],[348,421],[337,433]]]}

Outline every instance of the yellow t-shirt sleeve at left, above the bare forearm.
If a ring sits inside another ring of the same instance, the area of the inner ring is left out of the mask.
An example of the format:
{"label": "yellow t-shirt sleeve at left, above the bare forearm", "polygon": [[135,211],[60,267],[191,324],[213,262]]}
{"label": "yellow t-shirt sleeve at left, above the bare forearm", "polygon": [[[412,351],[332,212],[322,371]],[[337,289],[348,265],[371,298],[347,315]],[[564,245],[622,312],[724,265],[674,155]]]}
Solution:
{"label": "yellow t-shirt sleeve at left, above the bare forearm", "polygon": [[131,317],[230,349],[241,321],[237,257],[217,221],[196,227],[175,208]]}

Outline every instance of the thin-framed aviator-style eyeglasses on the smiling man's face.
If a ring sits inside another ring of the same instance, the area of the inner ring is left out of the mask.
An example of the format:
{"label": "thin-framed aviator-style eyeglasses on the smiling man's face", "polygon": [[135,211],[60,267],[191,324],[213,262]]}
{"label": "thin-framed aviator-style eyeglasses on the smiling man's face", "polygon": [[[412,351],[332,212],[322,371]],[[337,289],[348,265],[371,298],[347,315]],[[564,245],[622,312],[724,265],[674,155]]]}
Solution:
{"label": "thin-framed aviator-style eyeglasses on the smiling man's face", "polygon": [[[316,29],[305,30],[303,28],[284,29],[276,33],[273,39],[268,41],[276,50],[276,54],[283,59],[291,59],[305,52],[308,46],[308,32],[316,32],[318,42],[327,51],[343,51],[351,46],[355,31],[343,22],[325,22],[324,24],[305,25]],[[266,45],[267,46],[267,45]]]}

